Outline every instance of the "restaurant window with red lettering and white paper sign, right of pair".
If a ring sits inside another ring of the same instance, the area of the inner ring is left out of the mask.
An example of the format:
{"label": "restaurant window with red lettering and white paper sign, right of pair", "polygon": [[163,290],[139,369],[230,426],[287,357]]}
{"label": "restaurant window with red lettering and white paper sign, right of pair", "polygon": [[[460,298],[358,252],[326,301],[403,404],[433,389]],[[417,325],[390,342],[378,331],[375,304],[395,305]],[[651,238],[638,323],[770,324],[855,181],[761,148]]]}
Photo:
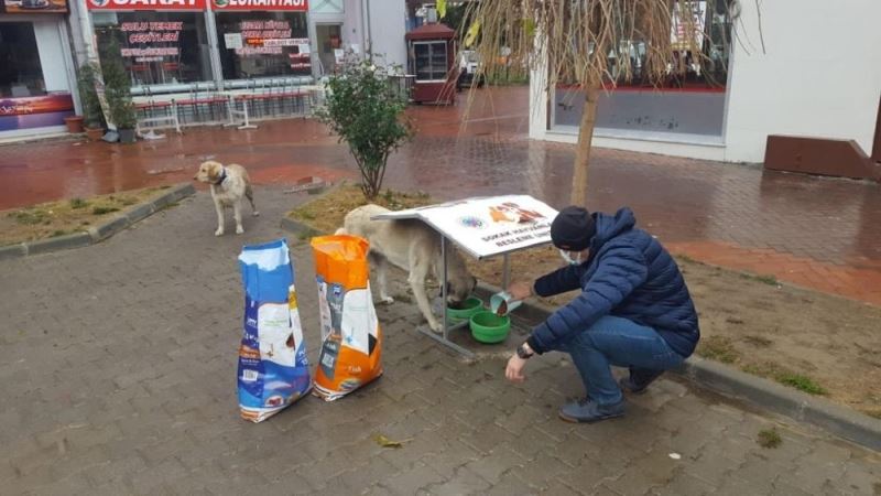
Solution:
{"label": "restaurant window with red lettering and white paper sign, right of pair", "polygon": [[217,12],[224,79],[312,75],[305,12]]}

